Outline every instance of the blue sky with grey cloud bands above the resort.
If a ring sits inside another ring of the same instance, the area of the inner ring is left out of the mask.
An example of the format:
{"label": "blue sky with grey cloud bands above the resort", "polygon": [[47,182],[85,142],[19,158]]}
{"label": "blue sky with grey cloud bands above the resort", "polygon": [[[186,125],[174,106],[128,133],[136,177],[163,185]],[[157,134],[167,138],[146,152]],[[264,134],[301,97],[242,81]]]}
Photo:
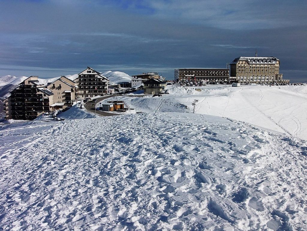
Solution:
{"label": "blue sky with grey cloud bands above the resort", "polygon": [[306,81],[305,1],[0,0],[0,75],[127,74],[275,56]]}

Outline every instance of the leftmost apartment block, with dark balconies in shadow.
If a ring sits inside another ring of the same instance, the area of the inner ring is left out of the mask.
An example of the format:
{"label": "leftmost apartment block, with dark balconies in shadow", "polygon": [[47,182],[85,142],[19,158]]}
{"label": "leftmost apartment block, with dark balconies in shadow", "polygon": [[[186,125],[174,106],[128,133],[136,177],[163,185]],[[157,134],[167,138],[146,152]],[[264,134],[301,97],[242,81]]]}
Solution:
{"label": "leftmost apartment block, with dark balconies in shadow", "polygon": [[53,93],[39,82],[38,76],[30,76],[4,100],[6,119],[33,120],[49,111]]}

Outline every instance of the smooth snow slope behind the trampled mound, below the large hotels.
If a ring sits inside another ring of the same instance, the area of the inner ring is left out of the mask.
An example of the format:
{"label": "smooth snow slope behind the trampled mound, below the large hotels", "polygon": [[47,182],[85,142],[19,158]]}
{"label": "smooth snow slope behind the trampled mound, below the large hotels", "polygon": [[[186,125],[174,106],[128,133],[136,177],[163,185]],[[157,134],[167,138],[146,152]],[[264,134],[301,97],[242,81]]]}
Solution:
{"label": "smooth snow slope behind the trampled mound, below the large hotels", "polygon": [[[307,85],[305,86],[167,86],[162,97],[120,96],[144,112],[195,112],[246,121],[307,140]],[[201,91],[196,91],[200,89]],[[112,100],[112,99],[108,99]]]}

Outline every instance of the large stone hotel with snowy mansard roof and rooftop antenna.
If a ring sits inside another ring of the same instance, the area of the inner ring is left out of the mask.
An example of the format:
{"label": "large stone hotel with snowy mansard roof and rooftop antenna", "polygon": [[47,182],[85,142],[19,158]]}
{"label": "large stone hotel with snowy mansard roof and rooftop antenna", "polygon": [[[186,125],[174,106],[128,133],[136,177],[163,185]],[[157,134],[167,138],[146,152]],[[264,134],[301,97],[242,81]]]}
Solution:
{"label": "large stone hotel with snowy mansard roof and rooftop antenna", "polygon": [[241,83],[289,83],[279,74],[280,61],[275,57],[238,57],[230,63],[230,76]]}

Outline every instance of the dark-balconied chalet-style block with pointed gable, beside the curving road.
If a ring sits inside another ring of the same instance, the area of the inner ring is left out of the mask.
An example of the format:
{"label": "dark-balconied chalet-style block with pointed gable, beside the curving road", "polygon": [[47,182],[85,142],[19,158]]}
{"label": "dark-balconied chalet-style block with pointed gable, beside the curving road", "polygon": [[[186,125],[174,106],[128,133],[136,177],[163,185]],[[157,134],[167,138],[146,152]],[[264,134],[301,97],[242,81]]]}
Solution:
{"label": "dark-balconied chalet-style block with pointed gable, beside the curving road", "polygon": [[79,98],[92,98],[107,93],[109,81],[109,79],[102,76],[98,71],[87,67],[87,69],[78,74],[78,78],[76,79]]}

